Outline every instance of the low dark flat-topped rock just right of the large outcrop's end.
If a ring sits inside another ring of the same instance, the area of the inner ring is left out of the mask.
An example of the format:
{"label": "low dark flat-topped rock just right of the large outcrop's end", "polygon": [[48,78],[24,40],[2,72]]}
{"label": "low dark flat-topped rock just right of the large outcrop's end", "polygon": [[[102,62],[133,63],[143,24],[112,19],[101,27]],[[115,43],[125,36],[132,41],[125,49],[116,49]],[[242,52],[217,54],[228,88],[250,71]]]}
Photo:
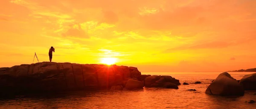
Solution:
{"label": "low dark flat-topped rock just right of the large outcrop's end", "polygon": [[145,78],[145,87],[164,87],[178,89],[179,80],[171,76],[152,75]]}

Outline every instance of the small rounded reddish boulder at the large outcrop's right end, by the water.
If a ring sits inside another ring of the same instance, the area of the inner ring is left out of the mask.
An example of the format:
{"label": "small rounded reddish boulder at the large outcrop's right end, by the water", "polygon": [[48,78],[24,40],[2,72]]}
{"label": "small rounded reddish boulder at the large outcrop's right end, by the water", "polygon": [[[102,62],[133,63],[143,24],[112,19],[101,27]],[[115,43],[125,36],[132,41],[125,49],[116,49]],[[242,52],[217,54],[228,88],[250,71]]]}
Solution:
{"label": "small rounded reddish boulder at the large outcrop's right end, by the water", "polygon": [[141,89],[143,88],[144,83],[139,80],[129,79],[125,85],[125,89],[132,90],[132,89]]}

